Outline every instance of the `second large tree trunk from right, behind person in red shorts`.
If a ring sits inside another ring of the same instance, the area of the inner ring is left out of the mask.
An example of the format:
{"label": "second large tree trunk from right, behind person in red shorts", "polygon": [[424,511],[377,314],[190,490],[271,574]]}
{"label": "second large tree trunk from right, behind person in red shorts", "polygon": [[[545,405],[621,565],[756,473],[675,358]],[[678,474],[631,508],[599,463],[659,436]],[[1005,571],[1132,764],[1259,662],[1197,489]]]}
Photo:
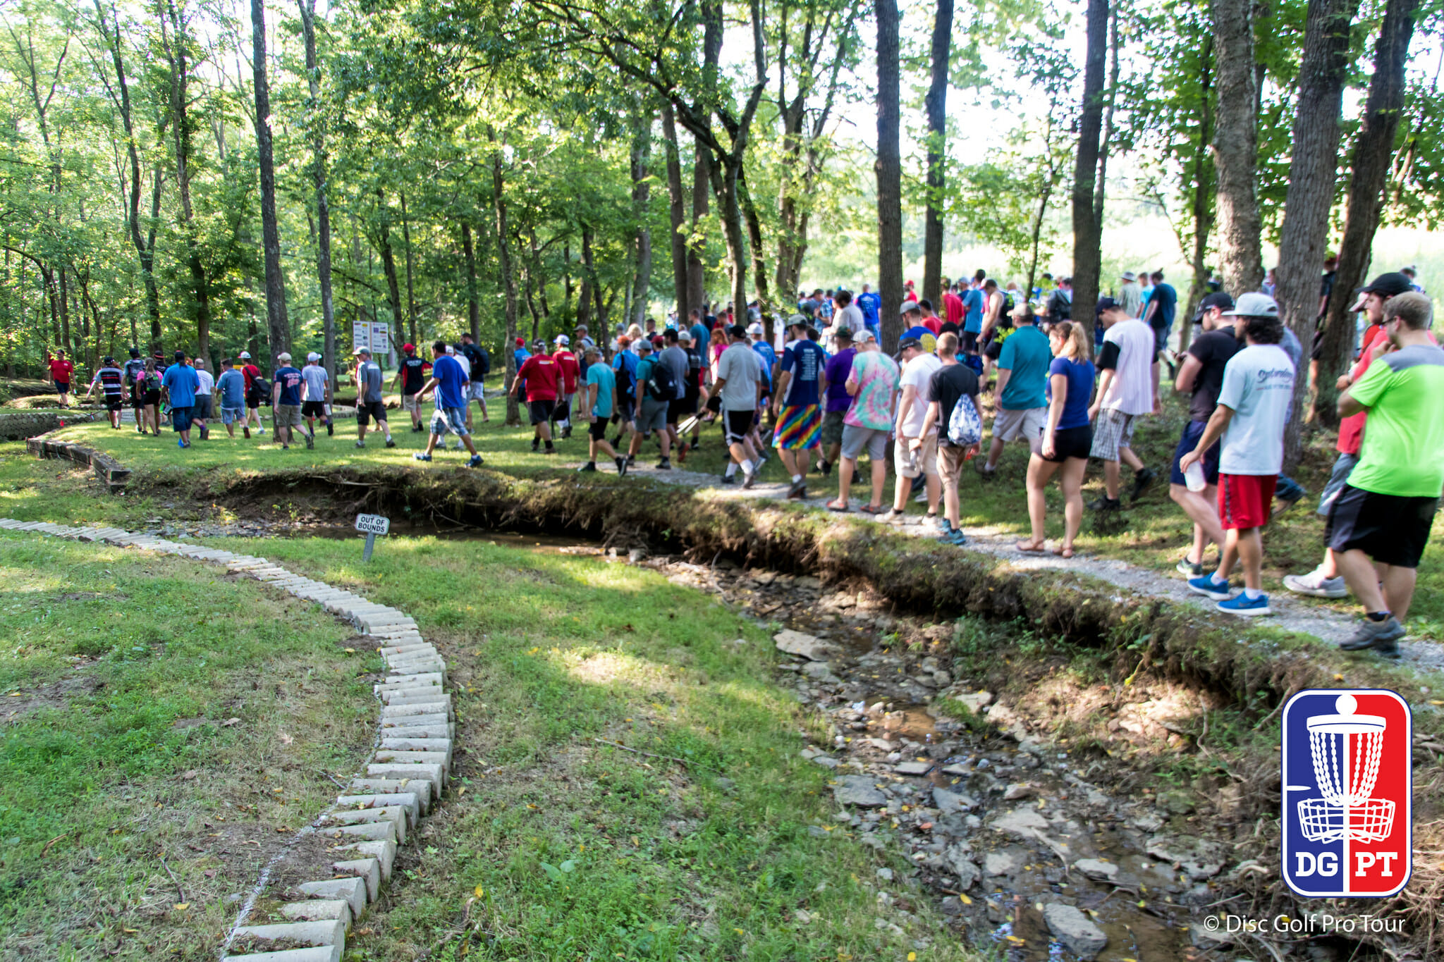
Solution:
{"label": "second large tree trunk from right, behind person in red shorts", "polygon": [[[1298,335],[1305,352],[1318,320],[1318,278],[1339,177],[1339,117],[1349,72],[1349,27],[1357,12],[1359,0],[1308,0],[1304,25],[1298,112],[1278,244],[1278,306],[1279,316]],[[1284,433],[1285,472],[1298,464],[1307,397],[1308,376],[1298,371],[1294,414]]]}

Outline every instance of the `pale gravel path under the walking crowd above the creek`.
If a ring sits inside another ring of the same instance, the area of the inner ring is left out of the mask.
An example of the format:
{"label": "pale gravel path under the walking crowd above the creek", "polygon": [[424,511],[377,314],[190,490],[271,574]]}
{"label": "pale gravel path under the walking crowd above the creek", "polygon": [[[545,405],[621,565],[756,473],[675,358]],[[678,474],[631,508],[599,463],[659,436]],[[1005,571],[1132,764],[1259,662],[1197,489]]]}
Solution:
{"label": "pale gravel path under the walking crowd above the creek", "polygon": [[[580,463],[573,467],[579,466]],[[614,469],[599,467],[599,470]],[[637,464],[628,469],[628,475],[637,475],[666,482],[669,485],[684,485],[699,489],[706,487],[710,490],[710,496],[722,499],[787,499],[786,483],[760,482],[751,490],[744,490],[741,483],[736,486],[723,485],[716,475],[702,475],[699,472],[680,470],[676,467],[669,472],[660,472],[653,467],[651,463],[643,463],[640,457]],[[1018,496],[1022,498],[1021,490],[1018,492]],[[809,498],[803,503],[814,511],[826,511],[827,499]],[[858,503],[862,502],[855,498],[853,505],[856,506]],[[937,534],[933,525],[927,524],[921,515],[908,515],[902,521],[890,522],[879,521],[853,509],[849,512],[849,516],[868,521],[871,524],[888,525],[895,528],[898,534],[917,538],[931,538]],[[1079,574],[1108,581],[1109,584],[1115,584],[1121,588],[1128,588],[1136,594],[1147,594],[1149,597],[1164,599],[1175,604],[1190,604],[1199,609],[1213,607],[1212,601],[1190,591],[1187,584],[1184,584],[1184,580],[1178,575],[1165,575],[1158,571],[1139,568],[1128,564],[1126,561],[1090,557],[1087,554],[1082,554],[1070,560],[1063,560],[1053,554],[1024,554],[1014,547],[1018,541],[1018,535],[1004,531],[999,526],[965,526],[963,534],[967,535],[967,550],[982,551],[1001,558],[1019,571],[1076,571]],[[1261,619],[1265,626],[1281,627],[1289,632],[1300,632],[1302,635],[1313,635],[1318,640],[1331,645],[1337,645],[1339,642],[1350,637],[1354,632],[1356,616],[1353,613],[1341,616],[1323,606],[1314,604],[1313,601],[1291,596],[1287,591],[1269,594],[1269,606],[1274,609],[1274,614]],[[1404,663],[1411,665],[1418,671],[1444,671],[1444,645],[1431,640],[1409,639],[1405,640],[1401,648],[1404,650],[1404,658],[1401,659]]]}

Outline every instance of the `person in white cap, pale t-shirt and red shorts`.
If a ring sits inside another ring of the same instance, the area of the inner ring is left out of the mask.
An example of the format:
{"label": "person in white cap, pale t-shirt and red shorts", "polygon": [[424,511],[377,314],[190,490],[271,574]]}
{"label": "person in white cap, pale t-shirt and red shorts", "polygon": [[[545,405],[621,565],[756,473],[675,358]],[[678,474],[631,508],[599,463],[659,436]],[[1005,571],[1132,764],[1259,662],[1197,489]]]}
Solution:
{"label": "person in white cap, pale t-shirt and red shorts", "polygon": [[[1157,293],[1155,293],[1157,296]],[[1264,594],[1262,529],[1271,516],[1274,486],[1284,466],[1284,425],[1294,392],[1294,365],[1278,346],[1284,326],[1278,304],[1268,294],[1243,294],[1232,312],[1243,326],[1246,348],[1223,368],[1219,404],[1191,451],[1180,459],[1188,467],[1222,438],[1219,451],[1219,521],[1223,524],[1223,557],[1219,570],[1190,578],[1188,587],[1217,601],[1229,614],[1269,614]],[[1242,562],[1243,593],[1233,596],[1229,574]]]}

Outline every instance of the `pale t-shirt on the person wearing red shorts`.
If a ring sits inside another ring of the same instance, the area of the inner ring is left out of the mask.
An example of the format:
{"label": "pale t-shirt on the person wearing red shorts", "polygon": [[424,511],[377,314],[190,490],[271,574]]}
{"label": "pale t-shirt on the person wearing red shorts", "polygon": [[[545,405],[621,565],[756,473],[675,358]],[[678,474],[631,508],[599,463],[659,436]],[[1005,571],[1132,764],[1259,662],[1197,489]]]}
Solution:
{"label": "pale t-shirt on the person wearing red shorts", "polygon": [[1284,467],[1284,425],[1294,398],[1294,365],[1278,345],[1249,345],[1223,366],[1219,404],[1233,408],[1223,431],[1219,470],[1225,475],[1278,475]]}

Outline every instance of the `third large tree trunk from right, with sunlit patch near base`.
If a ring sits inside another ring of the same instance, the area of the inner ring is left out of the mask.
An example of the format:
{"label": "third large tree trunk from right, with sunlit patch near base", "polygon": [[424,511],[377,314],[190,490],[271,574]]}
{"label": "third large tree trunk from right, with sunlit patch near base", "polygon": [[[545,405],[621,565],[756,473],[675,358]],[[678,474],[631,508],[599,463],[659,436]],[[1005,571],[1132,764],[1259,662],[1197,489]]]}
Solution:
{"label": "third large tree trunk from right, with sunlit patch near base", "polygon": [[1219,270],[1236,294],[1264,283],[1262,218],[1258,200],[1258,114],[1253,110],[1253,0],[1212,0],[1219,63]]}

